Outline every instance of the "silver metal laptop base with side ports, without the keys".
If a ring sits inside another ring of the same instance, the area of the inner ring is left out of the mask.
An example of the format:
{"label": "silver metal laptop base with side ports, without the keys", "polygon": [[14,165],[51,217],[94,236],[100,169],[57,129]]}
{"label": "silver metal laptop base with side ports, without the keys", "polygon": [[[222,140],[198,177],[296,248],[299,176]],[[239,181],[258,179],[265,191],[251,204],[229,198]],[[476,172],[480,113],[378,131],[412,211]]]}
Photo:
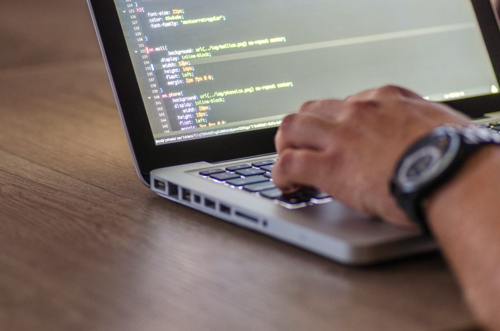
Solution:
{"label": "silver metal laptop base with side ports, without the keys", "polygon": [[[257,162],[269,156],[244,160]],[[297,245],[337,262],[365,265],[435,250],[419,230],[386,224],[333,200],[288,209],[242,189],[199,176],[199,171],[242,161],[198,162],[151,171],[158,195],[239,226]]]}

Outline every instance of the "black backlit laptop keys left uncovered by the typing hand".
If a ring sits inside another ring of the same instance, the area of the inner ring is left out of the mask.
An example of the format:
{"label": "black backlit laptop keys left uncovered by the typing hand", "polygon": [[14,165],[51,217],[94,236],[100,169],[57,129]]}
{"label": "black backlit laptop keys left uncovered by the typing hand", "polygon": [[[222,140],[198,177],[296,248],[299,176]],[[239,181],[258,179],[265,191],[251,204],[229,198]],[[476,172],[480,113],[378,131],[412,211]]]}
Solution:
{"label": "black backlit laptop keys left uncovered by the typing hand", "polygon": [[273,200],[289,209],[332,201],[331,196],[327,193],[310,187],[302,188],[292,194],[284,194],[271,179],[274,162],[274,160],[269,159],[251,164],[243,163],[225,169],[200,171],[199,174],[227,187],[245,190],[248,193]]}

